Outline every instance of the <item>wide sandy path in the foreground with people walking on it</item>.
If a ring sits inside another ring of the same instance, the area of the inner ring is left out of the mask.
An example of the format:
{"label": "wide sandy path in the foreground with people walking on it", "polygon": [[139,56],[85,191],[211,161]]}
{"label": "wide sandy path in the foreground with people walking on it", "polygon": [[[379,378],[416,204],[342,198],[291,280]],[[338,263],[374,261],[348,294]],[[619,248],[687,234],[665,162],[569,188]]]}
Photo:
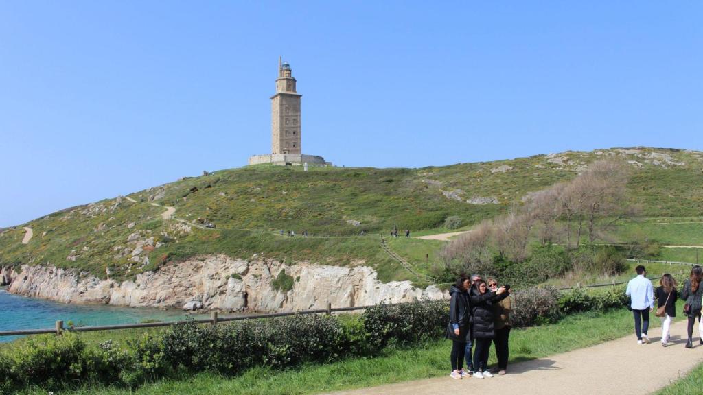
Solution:
{"label": "wide sandy path in the foreground with people walking on it", "polygon": [[[652,318],[656,319],[653,313]],[[666,348],[659,343],[662,332],[656,328],[650,331],[651,344],[637,344],[632,334],[597,346],[509,365],[505,376],[463,380],[449,377],[447,355],[446,377],[334,394],[649,394],[703,362],[703,346],[697,344],[698,339],[694,349],[684,347],[685,325],[685,321],[679,321],[671,326],[674,344]],[[697,335],[698,331],[694,332]]]}

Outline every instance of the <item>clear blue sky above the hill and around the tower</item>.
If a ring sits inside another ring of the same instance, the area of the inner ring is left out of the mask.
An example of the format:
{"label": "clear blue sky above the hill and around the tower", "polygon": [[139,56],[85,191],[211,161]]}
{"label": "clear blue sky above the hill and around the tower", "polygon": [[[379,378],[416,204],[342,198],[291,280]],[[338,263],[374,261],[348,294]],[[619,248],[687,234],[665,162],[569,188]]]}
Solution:
{"label": "clear blue sky above the hill and around the tower", "polygon": [[701,1],[1,1],[0,226],[270,150],[423,167],[703,150]]}

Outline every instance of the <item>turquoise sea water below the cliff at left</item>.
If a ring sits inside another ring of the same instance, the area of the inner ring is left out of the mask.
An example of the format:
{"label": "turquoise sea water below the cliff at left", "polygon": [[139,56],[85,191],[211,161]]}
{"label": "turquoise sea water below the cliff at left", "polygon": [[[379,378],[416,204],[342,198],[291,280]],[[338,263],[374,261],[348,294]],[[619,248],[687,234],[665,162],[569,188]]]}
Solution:
{"label": "turquoise sea water below the cliff at left", "polygon": [[[76,326],[140,323],[143,320],[177,321],[187,317],[179,310],[131,309],[104,304],[63,304],[44,299],[21,297],[0,287],[0,330],[54,328],[57,320]],[[204,318],[205,315],[193,316]],[[0,336],[9,342],[15,336]]]}

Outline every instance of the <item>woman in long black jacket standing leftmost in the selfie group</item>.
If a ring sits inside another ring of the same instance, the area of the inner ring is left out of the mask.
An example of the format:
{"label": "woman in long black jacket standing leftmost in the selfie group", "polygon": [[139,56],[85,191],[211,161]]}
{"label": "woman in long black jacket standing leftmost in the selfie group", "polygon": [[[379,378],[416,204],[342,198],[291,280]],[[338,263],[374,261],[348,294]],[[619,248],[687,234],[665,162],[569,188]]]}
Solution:
{"label": "woman in long black jacket standing leftmost in the selfie group", "polygon": [[[469,334],[469,298],[467,290],[469,289],[471,280],[466,276],[461,276],[456,280],[456,284],[451,286],[449,294],[451,301],[449,302],[449,328],[447,328],[446,337],[452,340],[451,347],[451,377],[460,379],[468,375],[468,372],[462,369],[464,364],[464,349],[466,347],[466,337]],[[470,361],[467,361],[467,364]]]}

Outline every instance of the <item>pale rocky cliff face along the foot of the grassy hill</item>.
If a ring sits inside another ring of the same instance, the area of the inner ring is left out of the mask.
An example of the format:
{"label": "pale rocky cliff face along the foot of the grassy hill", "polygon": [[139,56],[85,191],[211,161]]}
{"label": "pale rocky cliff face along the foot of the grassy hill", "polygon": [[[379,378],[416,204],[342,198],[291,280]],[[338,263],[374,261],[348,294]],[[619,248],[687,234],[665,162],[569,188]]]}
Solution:
{"label": "pale rocky cliff face along the foot of the grassy hill", "polygon": [[[283,274],[281,274],[283,272]],[[430,285],[382,283],[368,266],[325,266],[306,262],[232,259],[210,255],[138,274],[134,281],[100,280],[75,270],[23,265],[9,292],[63,303],[131,307],[175,307],[223,311],[297,311],[442,299]],[[281,286],[280,278],[288,279]]]}

